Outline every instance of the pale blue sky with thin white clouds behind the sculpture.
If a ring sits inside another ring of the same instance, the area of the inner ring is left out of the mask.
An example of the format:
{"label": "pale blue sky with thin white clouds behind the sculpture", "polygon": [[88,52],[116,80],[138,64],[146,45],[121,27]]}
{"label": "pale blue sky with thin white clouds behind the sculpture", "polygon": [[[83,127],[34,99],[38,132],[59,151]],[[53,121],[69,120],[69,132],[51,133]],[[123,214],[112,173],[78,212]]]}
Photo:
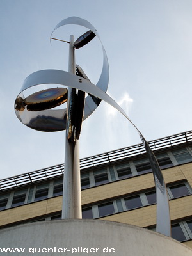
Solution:
{"label": "pale blue sky with thin white clouds behind the sculpture", "polygon": [[[65,131],[26,127],[14,102],[29,74],[68,70],[68,44],[49,40],[67,17],[97,29],[109,61],[107,93],[147,141],[190,131],[191,13],[191,0],[1,0],[0,179],[64,162]],[[68,40],[85,31],[69,25],[53,36]],[[102,67],[97,38],[76,51],[76,63],[96,84]],[[79,142],[80,158],[141,143],[136,129],[105,102],[84,120]]]}

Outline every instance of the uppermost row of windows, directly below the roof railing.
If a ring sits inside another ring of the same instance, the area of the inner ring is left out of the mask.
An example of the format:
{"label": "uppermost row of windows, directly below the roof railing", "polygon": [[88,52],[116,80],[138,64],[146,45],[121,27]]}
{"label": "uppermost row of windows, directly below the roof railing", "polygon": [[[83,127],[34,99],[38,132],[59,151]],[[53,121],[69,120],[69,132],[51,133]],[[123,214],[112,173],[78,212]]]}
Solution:
{"label": "uppermost row of windows, directly below the roof railing", "polygon": [[[173,165],[188,163],[192,161],[191,147],[173,150],[172,152],[164,152],[157,155],[157,160],[161,168],[168,168]],[[108,182],[152,172],[148,159],[140,159],[137,161],[129,161],[124,164],[116,164],[109,166],[103,170],[90,171],[81,175],[81,189],[99,186]],[[63,180],[55,180],[47,184],[34,186],[31,188],[12,191],[6,195],[0,196],[0,211],[10,207],[22,204],[28,204],[52,196],[61,195],[63,191]]]}

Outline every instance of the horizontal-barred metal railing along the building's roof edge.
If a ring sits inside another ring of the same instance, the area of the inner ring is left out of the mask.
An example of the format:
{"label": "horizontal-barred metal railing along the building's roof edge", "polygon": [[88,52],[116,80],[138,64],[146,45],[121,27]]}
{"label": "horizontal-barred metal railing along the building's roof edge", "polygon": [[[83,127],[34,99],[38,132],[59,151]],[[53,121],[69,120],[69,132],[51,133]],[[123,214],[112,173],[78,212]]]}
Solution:
{"label": "horizontal-barred metal railing along the building's roof edge", "polygon": [[[182,143],[192,141],[192,131],[182,132],[172,136],[164,137],[158,140],[149,141],[148,144],[152,150],[173,147]],[[86,157],[80,160],[81,170],[93,168],[100,164],[112,163],[127,157],[133,157],[145,153],[143,144],[133,145],[131,147],[120,148],[111,152],[106,152],[92,157]],[[50,180],[54,177],[62,176],[64,173],[64,164],[58,164],[49,168],[44,168],[34,172],[24,173],[14,177],[0,180],[0,191],[17,188],[28,184],[33,184],[42,180]]]}

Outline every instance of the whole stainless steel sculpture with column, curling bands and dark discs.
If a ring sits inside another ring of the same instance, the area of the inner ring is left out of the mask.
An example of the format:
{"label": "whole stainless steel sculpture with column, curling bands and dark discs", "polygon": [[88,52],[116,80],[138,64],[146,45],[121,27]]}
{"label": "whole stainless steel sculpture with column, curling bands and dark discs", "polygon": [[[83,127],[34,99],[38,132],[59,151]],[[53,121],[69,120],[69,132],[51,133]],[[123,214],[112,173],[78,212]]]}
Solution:
{"label": "whole stainless steel sculpture with column, curling bands and dark discs", "polygon": [[[120,111],[129,122],[131,120],[115,100],[106,93],[109,81],[109,67],[103,46],[102,72],[96,85],[89,81],[81,67],[75,65],[75,49],[83,47],[94,36],[99,38],[97,30],[88,21],[79,17],[69,17],[62,20],[55,29],[67,24],[77,24],[90,29],[80,36],[76,42],[74,42],[74,36],[70,36],[68,72],[62,70],[40,70],[29,75],[15,100],[15,113],[23,124],[38,131],[52,132],[66,129],[62,218],[81,218],[79,135],[82,121],[95,111],[101,100]],[[51,84],[52,88],[28,95],[29,88],[31,89],[33,86],[36,88],[36,86],[43,84]],[[58,85],[60,86],[59,88],[56,87]],[[63,86],[67,86],[68,89],[63,88]],[[88,93],[86,99],[85,92]],[[63,104],[66,100],[67,109],[51,109]],[[156,230],[166,236],[170,236],[170,209],[163,174],[147,141],[138,128],[135,125],[134,127],[145,145],[154,174],[157,196]]]}

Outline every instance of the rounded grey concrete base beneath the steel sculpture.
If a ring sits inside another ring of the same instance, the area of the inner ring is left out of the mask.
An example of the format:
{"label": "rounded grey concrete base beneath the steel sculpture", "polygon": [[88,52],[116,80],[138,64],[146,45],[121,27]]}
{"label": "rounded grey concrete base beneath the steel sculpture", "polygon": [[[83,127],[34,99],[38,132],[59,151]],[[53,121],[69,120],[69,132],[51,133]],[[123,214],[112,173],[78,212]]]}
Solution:
{"label": "rounded grey concrete base beneath the steel sculpture", "polygon": [[[1,255],[191,256],[192,250],[145,228],[102,220],[42,221],[4,228]],[[11,249],[14,249],[15,252]],[[20,252],[18,252],[18,250]],[[22,252],[23,250],[23,252]]]}

